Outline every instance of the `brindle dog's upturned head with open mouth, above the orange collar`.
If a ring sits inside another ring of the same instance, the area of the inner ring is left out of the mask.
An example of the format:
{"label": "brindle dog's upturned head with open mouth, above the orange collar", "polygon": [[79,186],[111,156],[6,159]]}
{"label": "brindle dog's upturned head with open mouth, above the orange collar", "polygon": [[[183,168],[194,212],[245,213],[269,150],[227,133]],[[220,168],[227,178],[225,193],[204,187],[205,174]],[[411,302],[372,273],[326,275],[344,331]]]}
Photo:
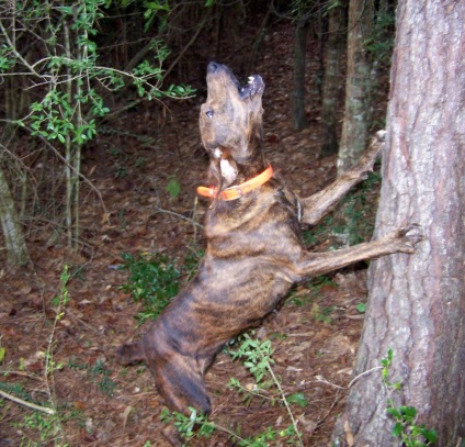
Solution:
{"label": "brindle dog's upturned head with open mouth, above the orange collar", "polygon": [[200,115],[202,143],[218,180],[227,186],[236,179],[238,164],[262,157],[264,82],[254,75],[240,86],[227,67],[209,63],[206,83],[208,96]]}

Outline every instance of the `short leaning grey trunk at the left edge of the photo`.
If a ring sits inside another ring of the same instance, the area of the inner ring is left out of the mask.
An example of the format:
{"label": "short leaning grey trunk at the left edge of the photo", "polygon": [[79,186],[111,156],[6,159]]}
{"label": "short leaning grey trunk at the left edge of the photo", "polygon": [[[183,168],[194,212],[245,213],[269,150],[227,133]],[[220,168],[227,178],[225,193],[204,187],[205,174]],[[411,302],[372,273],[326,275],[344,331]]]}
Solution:
{"label": "short leaning grey trunk at the left edge of the photo", "polygon": [[8,262],[25,266],[31,261],[21,226],[18,223],[13,198],[3,170],[0,167],[0,221],[7,246]]}

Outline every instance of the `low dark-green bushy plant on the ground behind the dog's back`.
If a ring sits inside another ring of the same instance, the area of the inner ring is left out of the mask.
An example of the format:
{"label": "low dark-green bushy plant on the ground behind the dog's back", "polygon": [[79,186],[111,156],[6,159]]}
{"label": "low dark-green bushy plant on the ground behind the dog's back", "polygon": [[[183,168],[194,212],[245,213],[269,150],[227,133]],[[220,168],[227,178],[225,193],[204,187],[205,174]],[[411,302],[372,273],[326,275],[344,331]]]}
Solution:
{"label": "low dark-green bushy plant on the ground behind the dog's back", "polygon": [[161,254],[139,255],[122,254],[123,268],[129,271],[127,282],[121,287],[131,293],[136,302],[144,303],[143,312],[137,316],[140,323],[152,320],[168,305],[179,292],[181,273],[174,262],[168,261]]}

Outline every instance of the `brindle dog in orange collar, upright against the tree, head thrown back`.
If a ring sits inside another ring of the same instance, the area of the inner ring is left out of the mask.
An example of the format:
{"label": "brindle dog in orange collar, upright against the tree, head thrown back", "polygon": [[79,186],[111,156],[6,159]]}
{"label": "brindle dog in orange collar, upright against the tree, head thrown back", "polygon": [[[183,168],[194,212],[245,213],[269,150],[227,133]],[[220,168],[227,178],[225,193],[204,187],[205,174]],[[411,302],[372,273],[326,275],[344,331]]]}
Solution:
{"label": "brindle dog in orange collar, upright against the tree, head thrown back", "polygon": [[[146,362],[171,411],[209,413],[204,373],[218,349],[259,325],[293,283],[393,253],[415,253],[422,238],[411,224],[379,241],[330,253],[309,253],[300,223],[316,223],[372,170],[379,141],[356,166],[322,191],[300,199],[273,176],[263,154],[260,76],[240,86],[229,69],[207,67],[201,108],[202,143],[209,154],[212,200],[206,213],[205,258],[193,280],[172,300],[138,343],[118,349],[123,365]],[[181,445],[171,429],[168,438]]]}

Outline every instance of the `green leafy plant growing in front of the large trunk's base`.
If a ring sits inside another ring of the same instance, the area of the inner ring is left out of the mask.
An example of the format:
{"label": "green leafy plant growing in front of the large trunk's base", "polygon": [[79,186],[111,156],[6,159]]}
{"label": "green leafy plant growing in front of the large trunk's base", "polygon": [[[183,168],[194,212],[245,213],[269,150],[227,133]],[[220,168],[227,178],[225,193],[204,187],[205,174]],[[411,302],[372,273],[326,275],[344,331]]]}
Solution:
{"label": "green leafy plant growing in front of the large trunk's base", "polygon": [[401,382],[392,383],[388,379],[389,368],[393,364],[393,349],[387,350],[387,357],[382,359],[382,380],[388,393],[387,413],[396,422],[393,436],[400,437],[406,447],[428,447],[436,442],[436,432],[428,429],[424,424],[417,424],[418,411],[413,406],[396,405],[393,393],[401,389]]}

